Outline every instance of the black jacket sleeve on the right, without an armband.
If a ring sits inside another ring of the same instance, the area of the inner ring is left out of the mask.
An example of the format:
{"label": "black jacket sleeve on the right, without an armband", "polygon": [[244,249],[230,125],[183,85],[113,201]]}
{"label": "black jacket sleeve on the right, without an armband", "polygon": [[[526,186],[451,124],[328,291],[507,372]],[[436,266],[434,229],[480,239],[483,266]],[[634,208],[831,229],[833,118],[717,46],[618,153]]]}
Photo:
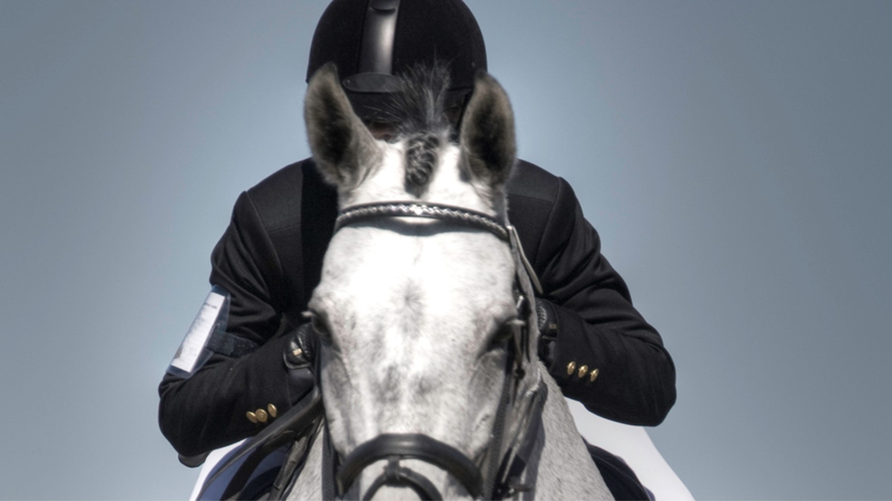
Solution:
{"label": "black jacket sleeve on the right, without an armband", "polygon": [[535,255],[544,299],[558,324],[549,374],[564,394],[608,419],[662,423],[675,402],[672,358],[632,307],[623,279],[601,255],[599,235],[564,179]]}

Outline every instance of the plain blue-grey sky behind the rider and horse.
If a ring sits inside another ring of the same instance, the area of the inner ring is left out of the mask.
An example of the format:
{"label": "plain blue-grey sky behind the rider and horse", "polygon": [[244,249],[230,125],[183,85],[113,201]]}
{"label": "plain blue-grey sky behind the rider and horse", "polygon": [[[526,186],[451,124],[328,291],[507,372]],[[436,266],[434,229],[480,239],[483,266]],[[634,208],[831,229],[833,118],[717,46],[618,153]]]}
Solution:
{"label": "plain blue-grey sky behind the rider and horse", "polygon": [[[892,3],[469,2],[678,368],[701,498],[888,498]],[[0,497],[180,498],[156,385],[308,154],[321,2],[0,2]]]}

